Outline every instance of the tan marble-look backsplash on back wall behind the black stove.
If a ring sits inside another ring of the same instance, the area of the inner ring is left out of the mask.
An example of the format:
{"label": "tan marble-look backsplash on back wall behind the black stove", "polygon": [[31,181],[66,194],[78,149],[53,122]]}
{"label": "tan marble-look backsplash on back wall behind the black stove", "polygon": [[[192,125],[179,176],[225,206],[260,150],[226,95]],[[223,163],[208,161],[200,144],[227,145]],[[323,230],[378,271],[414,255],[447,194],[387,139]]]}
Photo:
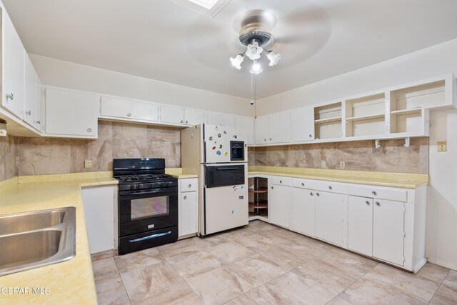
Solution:
{"label": "tan marble-look backsplash on back wall behind the black stove", "polygon": [[[99,139],[16,138],[19,176],[112,171],[116,158],[164,158],[181,167],[181,129],[99,121]],[[1,146],[0,146],[1,147]],[[94,162],[84,169],[84,160]]]}

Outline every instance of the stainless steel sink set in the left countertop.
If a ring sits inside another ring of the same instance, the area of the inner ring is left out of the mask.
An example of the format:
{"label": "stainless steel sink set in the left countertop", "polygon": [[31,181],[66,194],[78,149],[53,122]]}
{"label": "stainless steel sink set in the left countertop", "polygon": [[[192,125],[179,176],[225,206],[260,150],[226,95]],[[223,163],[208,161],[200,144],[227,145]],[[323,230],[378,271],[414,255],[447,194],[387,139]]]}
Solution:
{"label": "stainless steel sink set in the left countertop", "polygon": [[0,276],[76,255],[76,208],[0,216]]}

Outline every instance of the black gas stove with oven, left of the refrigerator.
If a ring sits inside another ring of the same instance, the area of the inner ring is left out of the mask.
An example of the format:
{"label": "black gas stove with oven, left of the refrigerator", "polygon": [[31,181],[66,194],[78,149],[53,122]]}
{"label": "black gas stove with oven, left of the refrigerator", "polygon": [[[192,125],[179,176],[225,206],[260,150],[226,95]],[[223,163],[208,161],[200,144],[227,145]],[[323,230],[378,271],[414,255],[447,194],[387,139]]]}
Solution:
{"label": "black gas stove with oven, left of the refrigerator", "polygon": [[114,159],[119,180],[119,254],[178,239],[178,179],[165,159]]}

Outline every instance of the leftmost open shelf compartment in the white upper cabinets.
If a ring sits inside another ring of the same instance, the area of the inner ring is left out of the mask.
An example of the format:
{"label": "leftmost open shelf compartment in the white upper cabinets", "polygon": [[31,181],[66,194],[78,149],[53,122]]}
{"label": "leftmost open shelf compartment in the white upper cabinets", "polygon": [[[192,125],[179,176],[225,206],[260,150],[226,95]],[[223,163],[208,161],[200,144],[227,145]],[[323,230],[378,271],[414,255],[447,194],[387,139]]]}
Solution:
{"label": "leftmost open shelf compartment in the white upper cabinets", "polygon": [[333,139],[343,136],[341,126],[342,103],[314,107],[314,135],[316,139]]}

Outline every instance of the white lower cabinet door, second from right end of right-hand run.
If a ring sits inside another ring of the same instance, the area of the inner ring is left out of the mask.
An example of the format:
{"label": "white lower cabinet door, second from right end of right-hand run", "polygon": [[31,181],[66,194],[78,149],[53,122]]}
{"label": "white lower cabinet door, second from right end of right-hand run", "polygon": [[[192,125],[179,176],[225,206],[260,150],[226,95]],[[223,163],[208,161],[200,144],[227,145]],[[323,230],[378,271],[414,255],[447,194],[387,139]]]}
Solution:
{"label": "white lower cabinet door, second from right end of right-hand run", "polygon": [[373,199],[349,196],[348,248],[373,255]]}

